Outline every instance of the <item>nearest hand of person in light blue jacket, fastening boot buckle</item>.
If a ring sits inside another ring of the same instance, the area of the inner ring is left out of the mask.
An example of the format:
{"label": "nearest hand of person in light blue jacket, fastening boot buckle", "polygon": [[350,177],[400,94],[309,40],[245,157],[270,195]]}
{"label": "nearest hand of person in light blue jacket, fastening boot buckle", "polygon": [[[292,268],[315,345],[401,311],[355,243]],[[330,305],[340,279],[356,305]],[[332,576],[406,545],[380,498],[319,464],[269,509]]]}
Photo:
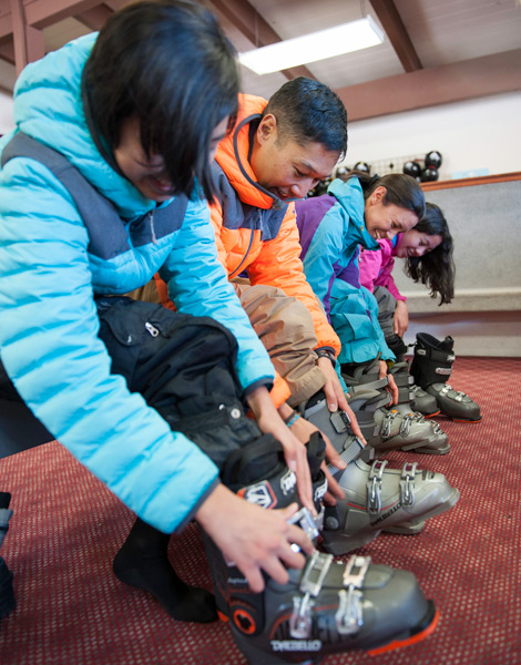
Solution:
{"label": "nearest hand of person in light blue jacket, fastening boot buckle", "polygon": [[196,521],[246,577],[251,590],[264,590],[262,571],[279,584],[286,584],[286,567],[302,569],[305,557],[292,549],[298,545],[311,554],[314,545],[304,531],[287,520],[298,510],[292,505],[282,510],[265,510],[248,503],[219,484],[195,513]]}

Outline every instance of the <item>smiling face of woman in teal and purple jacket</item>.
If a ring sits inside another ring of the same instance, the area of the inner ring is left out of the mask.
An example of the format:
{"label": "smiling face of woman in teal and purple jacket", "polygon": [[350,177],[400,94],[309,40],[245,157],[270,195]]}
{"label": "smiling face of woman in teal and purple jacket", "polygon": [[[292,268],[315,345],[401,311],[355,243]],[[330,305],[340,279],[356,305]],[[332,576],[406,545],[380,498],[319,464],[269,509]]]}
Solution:
{"label": "smiling face of woman in teal and purple jacket", "polygon": [[384,203],[386,193],[385,187],[377,187],[365,203],[366,228],[375,241],[392,239],[397,233],[405,233],[418,224],[418,217],[412,211],[394,203],[386,205]]}

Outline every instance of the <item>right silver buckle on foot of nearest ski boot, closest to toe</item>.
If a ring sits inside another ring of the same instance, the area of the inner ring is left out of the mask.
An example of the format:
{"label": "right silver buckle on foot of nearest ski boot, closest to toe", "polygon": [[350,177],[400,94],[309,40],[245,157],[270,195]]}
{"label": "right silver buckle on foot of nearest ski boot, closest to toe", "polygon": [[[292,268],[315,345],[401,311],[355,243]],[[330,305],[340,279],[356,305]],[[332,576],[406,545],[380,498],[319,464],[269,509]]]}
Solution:
{"label": "right silver buckle on foot of nearest ski boot, closest to toe", "polygon": [[337,631],[340,635],[353,635],[364,625],[362,593],[370,556],[353,555],[344,571],[344,586],[338,592],[338,610],[335,614]]}

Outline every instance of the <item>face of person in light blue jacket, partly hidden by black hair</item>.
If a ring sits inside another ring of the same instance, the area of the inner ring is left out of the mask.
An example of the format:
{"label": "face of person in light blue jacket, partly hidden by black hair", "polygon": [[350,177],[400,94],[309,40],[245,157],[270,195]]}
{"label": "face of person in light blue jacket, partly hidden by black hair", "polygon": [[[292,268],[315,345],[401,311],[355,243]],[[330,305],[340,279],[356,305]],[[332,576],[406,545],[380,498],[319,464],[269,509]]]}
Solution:
{"label": "face of person in light blue jacket, partly hidden by black hair", "polygon": [[[225,136],[228,116],[223,119],[212,134],[208,161],[212,162],[218,142]],[[140,121],[137,117],[127,117],[123,121],[120,133],[120,143],[114,150],[114,158],[123,175],[146,198],[163,203],[172,198],[175,187],[165,171],[164,158],[161,155],[150,156],[141,145]]]}

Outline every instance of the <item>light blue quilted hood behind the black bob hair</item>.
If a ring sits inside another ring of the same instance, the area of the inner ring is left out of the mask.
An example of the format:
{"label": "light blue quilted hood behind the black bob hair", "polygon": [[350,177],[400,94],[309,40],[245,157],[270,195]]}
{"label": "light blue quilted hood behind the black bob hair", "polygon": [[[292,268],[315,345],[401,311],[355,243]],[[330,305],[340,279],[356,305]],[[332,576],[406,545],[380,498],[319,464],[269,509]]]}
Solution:
{"label": "light blue quilted hood behind the black bob hair", "polygon": [[18,130],[62,153],[123,217],[133,217],[155,202],[103,158],[83,110],[81,79],[96,38],[81,37],[22,71],[14,89],[14,121]]}

